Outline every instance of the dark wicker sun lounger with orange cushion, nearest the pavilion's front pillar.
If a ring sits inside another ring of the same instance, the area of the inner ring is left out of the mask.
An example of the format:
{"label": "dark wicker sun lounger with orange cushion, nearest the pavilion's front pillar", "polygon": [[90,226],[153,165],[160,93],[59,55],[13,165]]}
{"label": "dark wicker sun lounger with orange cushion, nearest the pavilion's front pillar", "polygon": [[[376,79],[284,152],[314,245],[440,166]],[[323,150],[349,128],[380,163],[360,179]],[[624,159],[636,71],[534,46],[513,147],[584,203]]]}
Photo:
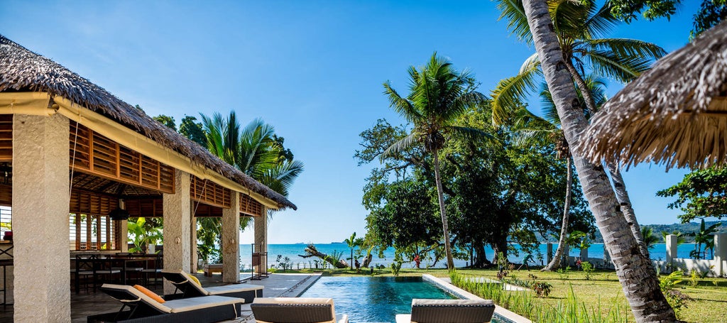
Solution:
{"label": "dark wicker sun lounger with orange cushion, nearest the pavilion's front pillar", "polygon": [[[220,322],[236,319],[242,302],[239,298],[204,296],[168,300],[160,303],[128,285],[103,284],[101,290],[122,306],[117,312],[88,317],[88,322]],[[156,296],[156,295],[154,295]],[[128,311],[124,311],[129,307]]]}

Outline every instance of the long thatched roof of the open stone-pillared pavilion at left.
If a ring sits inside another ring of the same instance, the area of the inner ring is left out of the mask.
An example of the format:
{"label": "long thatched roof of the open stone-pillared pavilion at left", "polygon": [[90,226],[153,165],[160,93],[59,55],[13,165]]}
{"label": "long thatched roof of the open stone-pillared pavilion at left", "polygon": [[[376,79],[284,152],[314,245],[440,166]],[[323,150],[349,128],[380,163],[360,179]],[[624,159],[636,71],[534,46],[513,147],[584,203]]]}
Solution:
{"label": "long thatched roof of the open stone-pillared pavilion at left", "polygon": [[113,96],[102,87],[84,79],[68,68],[38,55],[0,35],[0,92],[48,92],[65,97],[73,103],[103,114],[123,124],[165,148],[187,156],[194,163],[209,168],[230,180],[240,183],[280,207],[295,204],[267,186],[209,153],[192,140],[158,123],[146,113]]}

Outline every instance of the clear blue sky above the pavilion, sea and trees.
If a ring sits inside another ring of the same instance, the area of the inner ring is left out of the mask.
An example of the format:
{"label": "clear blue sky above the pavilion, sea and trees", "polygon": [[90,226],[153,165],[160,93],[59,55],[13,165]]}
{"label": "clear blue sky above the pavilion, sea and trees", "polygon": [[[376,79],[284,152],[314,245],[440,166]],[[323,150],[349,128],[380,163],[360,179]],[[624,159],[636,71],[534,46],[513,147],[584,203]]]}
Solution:
{"label": "clear blue sky above the pavilion, sea and trees", "polygon": [[[671,52],[686,44],[695,10],[612,36]],[[382,82],[405,92],[406,68],[437,51],[489,93],[534,52],[498,15],[492,1],[0,0],[0,33],[152,116],[234,110],[273,124],[305,172],[289,196],[299,210],[275,215],[269,242],[333,242],[365,231],[358,134],[380,118],[403,122]],[[620,88],[610,81],[608,92]],[[677,222],[654,193],[685,173],[646,164],[624,174],[640,223]]]}

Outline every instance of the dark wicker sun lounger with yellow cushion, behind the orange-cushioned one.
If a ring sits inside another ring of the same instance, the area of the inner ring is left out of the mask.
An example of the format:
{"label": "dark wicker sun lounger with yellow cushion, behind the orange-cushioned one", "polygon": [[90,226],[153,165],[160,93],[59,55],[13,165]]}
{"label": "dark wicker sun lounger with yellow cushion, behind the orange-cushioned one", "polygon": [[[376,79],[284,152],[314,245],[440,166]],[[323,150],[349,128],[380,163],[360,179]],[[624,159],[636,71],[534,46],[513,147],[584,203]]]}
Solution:
{"label": "dark wicker sun lounger with yellow cushion, behind the orange-cushioned one", "polygon": [[[161,271],[161,275],[171,282],[176,289],[172,294],[164,295],[164,299],[196,298],[199,296],[227,296],[244,298],[250,303],[254,298],[262,297],[262,286],[253,284],[230,284],[216,287],[201,287],[184,271]],[[180,292],[177,292],[180,291]]]}

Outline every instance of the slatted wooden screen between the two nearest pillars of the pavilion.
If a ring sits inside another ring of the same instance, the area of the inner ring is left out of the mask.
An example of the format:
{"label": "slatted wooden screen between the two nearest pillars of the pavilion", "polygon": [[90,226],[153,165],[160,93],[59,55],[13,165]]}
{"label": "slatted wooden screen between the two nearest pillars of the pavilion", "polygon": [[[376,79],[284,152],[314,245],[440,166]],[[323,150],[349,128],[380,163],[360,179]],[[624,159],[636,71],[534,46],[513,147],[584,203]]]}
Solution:
{"label": "slatted wooden screen between the two nearest pillars of the pavilion", "polygon": [[71,121],[71,167],[101,178],[174,194],[174,167]]}

